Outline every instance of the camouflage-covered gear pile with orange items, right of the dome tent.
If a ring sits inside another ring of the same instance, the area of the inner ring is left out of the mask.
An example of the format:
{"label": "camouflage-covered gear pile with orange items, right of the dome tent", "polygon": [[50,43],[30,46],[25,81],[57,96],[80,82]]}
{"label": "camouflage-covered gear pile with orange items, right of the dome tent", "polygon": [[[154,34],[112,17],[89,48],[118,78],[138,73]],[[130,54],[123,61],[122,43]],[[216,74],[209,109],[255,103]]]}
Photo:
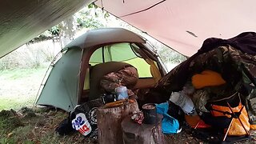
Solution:
{"label": "camouflage-covered gear pile with orange items, right of the dome tent", "polygon": [[[248,136],[256,122],[255,54],[253,32],[226,40],[208,38],[197,54],[166,74],[154,90],[165,95],[162,101],[171,95],[170,101],[187,115],[194,115],[195,109],[197,125],[201,121],[224,130],[223,141],[226,136]],[[178,101],[185,101],[184,94],[193,103]]]}

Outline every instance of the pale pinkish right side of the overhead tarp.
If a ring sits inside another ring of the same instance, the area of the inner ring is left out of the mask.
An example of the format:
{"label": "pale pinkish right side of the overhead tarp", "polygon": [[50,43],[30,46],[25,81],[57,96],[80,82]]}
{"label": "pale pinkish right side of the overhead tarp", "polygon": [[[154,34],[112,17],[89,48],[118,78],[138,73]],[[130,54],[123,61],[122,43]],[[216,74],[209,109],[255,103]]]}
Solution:
{"label": "pale pinkish right side of the overhead tarp", "polygon": [[206,38],[256,31],[255,0],[98,0],[104,10],[186,56]]}

